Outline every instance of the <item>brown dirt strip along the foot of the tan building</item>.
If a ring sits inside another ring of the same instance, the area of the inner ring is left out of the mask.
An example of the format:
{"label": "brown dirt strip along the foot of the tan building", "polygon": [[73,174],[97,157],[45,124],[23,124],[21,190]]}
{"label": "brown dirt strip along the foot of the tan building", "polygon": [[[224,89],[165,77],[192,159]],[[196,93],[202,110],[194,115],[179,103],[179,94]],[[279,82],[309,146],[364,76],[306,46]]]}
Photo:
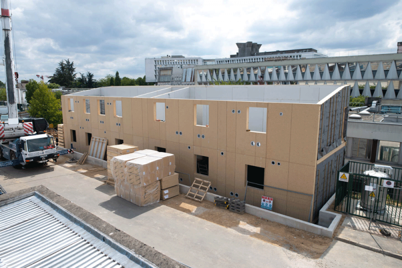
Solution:
{"label": "brown dirt strip along the foot of the tan building", "polygon": [[[62,156],[57,161],[57,164],[99,181],[105,182],[107,180],[108,172],[106,169],[88,164],[76,165],[74,163],[65,163],[70,158],[71,156],[69,155]],[[319,258],[333,240],[330,237],[298,230],[250,214],[245,213],[240,215],[230,212],[225,208],[216,207],[214,203],[209,201],[200,203],[185,198],[183,194],[164,201],[161,200],[160,204],[230,228],[233,231],[249,235],[255,239],[284,247],[309,258]],[[342,217],[342,221],[343,219],[344,217]],[[339,226],[341,224],[342,222]]]}

